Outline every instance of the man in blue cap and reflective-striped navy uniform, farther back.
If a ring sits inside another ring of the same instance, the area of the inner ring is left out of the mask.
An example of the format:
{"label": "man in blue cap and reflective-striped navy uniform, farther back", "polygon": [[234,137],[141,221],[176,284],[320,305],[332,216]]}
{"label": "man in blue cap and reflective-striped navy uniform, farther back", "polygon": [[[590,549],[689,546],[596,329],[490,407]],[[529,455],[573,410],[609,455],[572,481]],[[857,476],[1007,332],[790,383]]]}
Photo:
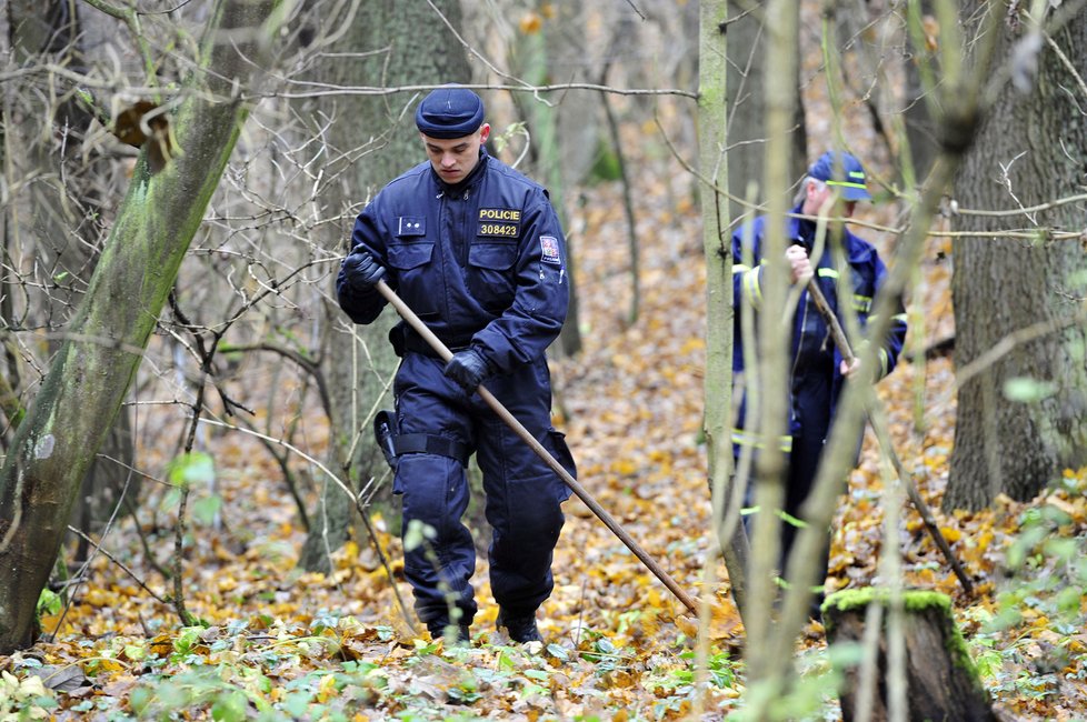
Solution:
{"label": "man in blue cap and reflective-striped navy uniform, farther back", "polygon": [[[875,247],[855,235],[844,225],[840,231],[841,257],[846,263],[835,263],[835,251],[828,230],[826,247],[821,254],[812,259],[816,241],[816,220],[820,212],[828,217],[850,218],[858,201],[869,201],[868,183],[860,161],[846,152],[824,153],[808,169],[800,183],[797,205],[792,215],[786,220],[786,239],[791,244],[786,251],[791,282],[801,289],[815,279],[839,321],[845,327],[845,304],[852,304],[861,329],[872,320],[869,315],[876,293],[882,287],[887,269]],[[834,205],[829,205],[834,203]],[[739,310],[749,304],[758,311],[762,300],[762,281],[767,272],[762,263],[762,241],[766,217],[756,218],[750,228],[740,228],[732,235],[732,303]],[[750,243],[750,249],[745,244]],[[845,299],[838,295],[838,278],[847,274],[851,281],[851,294]],[[746,387],[744,375],[744,334],[740,330],[740,313],[735,314],[735,343],[732,348],[732,373],[736,390],[742,389],[742,401],[736,425],[732,429],[734,453],[738,457],[745,445],[756,445],[759,440],[745,429],[747,403],[761,390]],[[786,479],[785,509],[789,517],[801,519],[800,509],[815,482],[816,470],[822,457],[824,444],[834,422],[838,397],[847,377],[860,372],[860,361],[848,364],[829,338],[826,320],[815,308],[807,291],[801,290],[790,338],[791,358],[789,361],[789,424],[787,435],[778,440],[782,451],[788,454],[788,477]],[[891,319],[887,338],[879,341],[878,368],[866,371],[872,381],[890,373],[898,362],[898,355],[906,338],[906,313],[900,300]],[[874,342],[874,340],[869,340]],[[860,440],[857,441],[859,452]],[[750,497],[749,497],[750,500]],[[745,522],[750,517],[745,518]],[[802,519],[801,519],[802,521]],[[779,570],[785,572],[797,527],[794,522],[781,524],[781,555]],[[829,561],[829,535],[820,556],[821,573],[825,580]],[[818,603],[818,599],[817,599]],[[818,618],[817,606],[812,616]]]}

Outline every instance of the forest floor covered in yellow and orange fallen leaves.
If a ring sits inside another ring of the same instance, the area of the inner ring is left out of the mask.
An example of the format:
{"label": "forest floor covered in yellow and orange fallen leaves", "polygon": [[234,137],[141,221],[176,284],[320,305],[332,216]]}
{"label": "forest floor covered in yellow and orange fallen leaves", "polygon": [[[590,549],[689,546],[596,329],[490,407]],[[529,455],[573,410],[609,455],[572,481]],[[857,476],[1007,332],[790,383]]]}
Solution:
{"label": "forest floor covered in yellow and orange fallen leaves", "polygon": [[[47,610],[44,628],[56,634],[0,658],[0,719],[658,720],[740,712],[744,631],[727,583],[714,581],[725,571],[709,530],[699,432],[705,262],[700,234],[690,230],[690,180],[669,178],[670,185],[655,182],[639,198],[641,294],[632,324],[619,189],[588,191],[571,229],[585,350],[552,364],[556,420],[589,492],[680,585],[715,601],[705,662],[696,662],[696,621],[576,500],[566,505],[556,588],[540,612],[547,643],[511,646],[495,630],[480,559],[473,644],[446,649],[409,629],[365,535],[333,554],[331,574],[299,570],[305,531],[281,474],[252,443],[223,434],[208,449],[221,505],[201,507],[212,498],[198,485],[190,504],[181,589],[201,623],[181,625],[159,601],[173,588],[152,556],[162,562],[172,553],[177,498],[152,489],[140,512],[148,546],[131,518],[119,520],[70,589],[71,603]],[[937,250],[926,254],[926,282],[913,301],[928,339],[946,332],[949,314]],[[880,395],[899,453],[938,510],[954,440],[950,362],[904,362]],[[319,448],[308,452],[321,455]],[[905,510],[898,525],[907,584],[951,596],[984,684],[1023,719],[1087,715],[1087,601],[1077,561],[1087,538],[1085,490],[1087,473],[1069,471],[1029,503],[1000,499],[985,512],[938,514],[977,583],[969,599],[917,515]],[[835,520],[834,588],[875,581],[886,551],[882,495],[869,439]],[[410,600],[400,541],[380,519],[376,525],[399,594]],[[810,624],[798,642],[805,683],[781,719],[839,719],[838,678],[821,632]]]}

